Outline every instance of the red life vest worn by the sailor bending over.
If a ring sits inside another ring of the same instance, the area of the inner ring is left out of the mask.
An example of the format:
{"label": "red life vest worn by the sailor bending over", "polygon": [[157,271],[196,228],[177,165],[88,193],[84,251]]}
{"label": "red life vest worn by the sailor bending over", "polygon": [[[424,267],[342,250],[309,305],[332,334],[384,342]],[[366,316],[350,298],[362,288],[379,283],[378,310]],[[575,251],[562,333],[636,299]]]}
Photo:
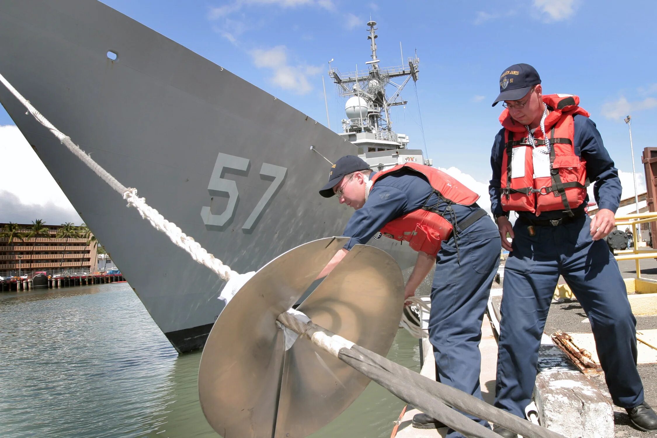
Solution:
{"label": "red life vest worn by the sailor bending over", "polygon": [[[391,169],[375,173],[371,177],[371,181],[376,184],[376,181],[402,169],[410,171],[411,174],[424,175],[434,189],[433,193],[438,194],[439,199],[445,200],[449,204],[471,206],[479,199],[478,194],[461,184],[457,179],[428,165],[415,163],[396,165]],[[430,255],[438,254],[442,240],[449,238],[453,225],[442,216],[444,212],[434,210],[436,206],[426,205],[429,198],[424,202],[424,207],[388,222],[381,229],[382,234],[394,240],[399,240],[399,242],[409,242],[409,246],[415,251],[426,252]]]}

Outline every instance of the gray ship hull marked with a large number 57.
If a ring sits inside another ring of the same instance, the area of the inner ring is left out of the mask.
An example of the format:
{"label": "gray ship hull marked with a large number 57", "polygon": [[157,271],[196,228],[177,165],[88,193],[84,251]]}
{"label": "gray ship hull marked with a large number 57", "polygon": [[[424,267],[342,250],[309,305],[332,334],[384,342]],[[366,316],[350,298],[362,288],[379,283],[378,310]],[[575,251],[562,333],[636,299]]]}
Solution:
{"label": "gray ship hull marked with a large number 57", "polygon": [[[327,162],[355,146],[288,104],[97,1],[0,1],[0,73],[150,206],[239,273],[340,235]],[[108,58],[116,53],[116,60]],[[0,102],[175,348],[202,347],[223,281],[75,158],[0,87]],[[408,269],[415,254],[376,246]]]}

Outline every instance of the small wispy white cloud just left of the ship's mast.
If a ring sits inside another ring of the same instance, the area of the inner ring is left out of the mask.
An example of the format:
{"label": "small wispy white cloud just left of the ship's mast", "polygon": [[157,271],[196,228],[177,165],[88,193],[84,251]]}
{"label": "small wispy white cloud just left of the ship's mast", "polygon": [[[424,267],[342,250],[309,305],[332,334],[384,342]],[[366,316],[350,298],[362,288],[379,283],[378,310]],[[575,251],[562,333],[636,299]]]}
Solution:
{"label": "small wispy white cloud just left of the ship's mast", "polygon": [[282,89],[291,90],[298,95],[309,93],[313,87],[309,76],[316,76],[322,71],[319,66],[290,66],[287,61],[287,49],[284,45],[272,49],[256,49],[251,51],[254,65],[258,68],[268,68],[272,71],[269,81]]}

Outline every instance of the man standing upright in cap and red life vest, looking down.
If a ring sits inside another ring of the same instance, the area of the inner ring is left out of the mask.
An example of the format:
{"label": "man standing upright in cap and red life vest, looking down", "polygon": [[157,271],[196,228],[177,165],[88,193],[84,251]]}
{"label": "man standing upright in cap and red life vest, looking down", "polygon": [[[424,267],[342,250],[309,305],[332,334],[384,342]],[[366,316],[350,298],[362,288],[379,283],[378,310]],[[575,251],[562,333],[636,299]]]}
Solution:
{"label": "man standing upright in cap and red life vest, looking down", "polygon": [[[591,321],[615,405],[641,430],[657,430],[637,372],[636,320],[614,255],[602,240],[613,229],[621,185],[589,113],[574,95],[543,95],[528,64],[500,77],[503,128],[491,152],[491,210],[505,265],[495,406],[524,417],[532,399],[538,350],[559,275]],[[599,210],[585,213],[588,181]],[[509,211],[518,212],[512,227]],[[507,233],[512,242],[507,240]],[[495,431],[516,437],[506,429]]]}

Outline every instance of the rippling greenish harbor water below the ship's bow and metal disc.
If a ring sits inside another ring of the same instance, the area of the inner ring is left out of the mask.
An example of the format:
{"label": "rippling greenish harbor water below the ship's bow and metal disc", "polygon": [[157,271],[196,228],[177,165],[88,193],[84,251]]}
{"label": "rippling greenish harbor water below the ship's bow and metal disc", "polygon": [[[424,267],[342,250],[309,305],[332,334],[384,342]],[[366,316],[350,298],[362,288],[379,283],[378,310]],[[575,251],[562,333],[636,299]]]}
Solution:
{"label": "rippling greenish harbor water below the ship's bow and metal disc", "polygon": [[[198,403],[201,353],[179,356],[127,283],[0,294],[0,437],[217,437]],[[392,361],[419,370],[399,330]],[[311,435],[389,437],[404,403],[371,383]]]}

